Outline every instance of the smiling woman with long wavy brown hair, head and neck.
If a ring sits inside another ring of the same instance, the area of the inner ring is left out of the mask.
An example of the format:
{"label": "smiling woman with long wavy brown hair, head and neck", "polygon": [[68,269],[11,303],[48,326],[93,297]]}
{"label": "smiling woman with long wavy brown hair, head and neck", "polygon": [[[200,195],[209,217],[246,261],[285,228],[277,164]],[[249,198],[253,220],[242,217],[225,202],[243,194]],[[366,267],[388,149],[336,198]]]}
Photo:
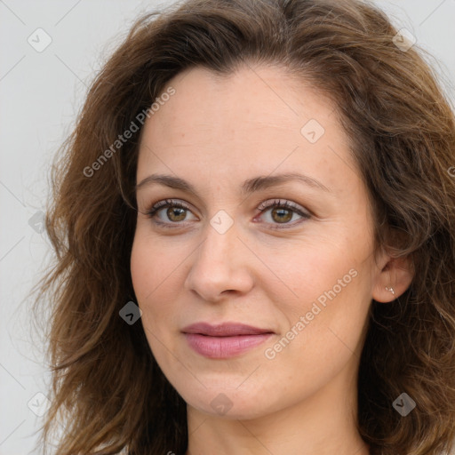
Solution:
{"label": "smiling woman with long wavy brown hair, head and neck", "polygon": [[451,450],[455,122],[405,38],[356,0],[136,22],[53,169],[44,444]]}

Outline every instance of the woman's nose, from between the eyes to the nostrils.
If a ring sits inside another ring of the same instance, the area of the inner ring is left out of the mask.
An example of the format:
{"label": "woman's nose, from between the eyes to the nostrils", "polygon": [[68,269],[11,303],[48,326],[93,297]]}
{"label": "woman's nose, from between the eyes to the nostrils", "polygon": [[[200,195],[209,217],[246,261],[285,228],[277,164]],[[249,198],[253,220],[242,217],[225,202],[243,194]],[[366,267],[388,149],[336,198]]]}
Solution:
{"label": "woman's nose, from between the eyes to the nostrils", "polygon": [[250,291],[253,278],[249,266],[254,255],[238,237],[235,223],[224,234],[208,223],[204,234],[204,241],[188,258],[193,261],[185,288],[211,302]]}

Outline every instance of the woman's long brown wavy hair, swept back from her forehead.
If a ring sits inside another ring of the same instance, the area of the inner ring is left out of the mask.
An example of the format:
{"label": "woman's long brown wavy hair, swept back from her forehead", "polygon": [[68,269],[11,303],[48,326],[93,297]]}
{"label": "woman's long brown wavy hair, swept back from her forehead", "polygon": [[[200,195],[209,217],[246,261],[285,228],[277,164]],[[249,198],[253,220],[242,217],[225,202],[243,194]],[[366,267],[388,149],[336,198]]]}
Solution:
{"label": "woman's long brown wavy hair, swept back from her forehead", "polygon": [[[369,191],[375,251],[387,246],[412,259],[408,290],[391,304],[371,301],[360,435],[371,455],[451,450],[455,119],[427,52],[401,50],[396,33],[384,12],[360,0],[188,0],[134,22],[95,76],[50,172],[45,227],[54,263],[34,304],[36,319],[51,311],[42,327],[52,371],[44,450],[58,431],[59,455],[187,450],[186,403],[142,324],[119,316],[135,301],[140,132],[100,156],[184,69],[230,75],[256,63],[285,68],[333,101]],[[406,417],[392,406],[403,392],[417,404]]]}

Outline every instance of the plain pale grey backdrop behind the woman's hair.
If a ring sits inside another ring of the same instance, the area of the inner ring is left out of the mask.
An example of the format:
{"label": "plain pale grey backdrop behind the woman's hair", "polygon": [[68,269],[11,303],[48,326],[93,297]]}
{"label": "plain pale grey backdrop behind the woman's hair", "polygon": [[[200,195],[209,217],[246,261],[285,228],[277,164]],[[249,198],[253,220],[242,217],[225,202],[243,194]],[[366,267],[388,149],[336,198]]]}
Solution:
{"label": "plain pale grey backdrop behind the woman's hair", "polygon": [[[46,410],[50,377],[31,339],[27,293],[50,258],[41,221],[52,156],[132,20],[167,4],[0,0],[0,455],[38,453]],[[430,64],[455,100],[455,0],[377,4],[435,56]]]}

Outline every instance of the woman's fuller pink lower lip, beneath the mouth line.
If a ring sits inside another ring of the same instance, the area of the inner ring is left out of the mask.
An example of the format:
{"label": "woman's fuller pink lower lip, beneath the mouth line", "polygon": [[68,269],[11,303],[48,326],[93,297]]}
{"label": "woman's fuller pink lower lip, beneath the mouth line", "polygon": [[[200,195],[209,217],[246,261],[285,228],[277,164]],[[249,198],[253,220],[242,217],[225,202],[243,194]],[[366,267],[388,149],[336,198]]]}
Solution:
{"label": "woman's fuller pink lower lip, beneath the mouth line", "polygon": [[188,345],[196,353],[211,359],[225,359],[243,354],[253,347],[259,346],[273,333],[259,335],[236,335],[233,337],[209,337],[200,333],[185,333]]}

